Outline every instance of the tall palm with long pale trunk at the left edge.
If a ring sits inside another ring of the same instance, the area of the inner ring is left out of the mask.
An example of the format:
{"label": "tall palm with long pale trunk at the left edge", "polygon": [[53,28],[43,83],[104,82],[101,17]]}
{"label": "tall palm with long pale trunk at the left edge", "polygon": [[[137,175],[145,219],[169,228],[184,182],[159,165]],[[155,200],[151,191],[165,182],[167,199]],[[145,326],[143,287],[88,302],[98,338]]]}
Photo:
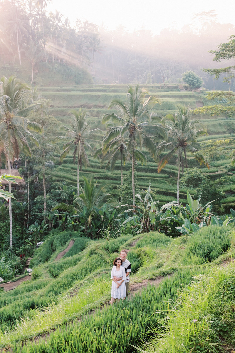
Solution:
{"label": "tall palm with long pale trunk at the left edge", "polygon": [[[25,117],[37,105],[25,107],[29,86],[15,77],[1,78],[0,82],[0,139],[1,146],[8,162],[8,173],[11,174],[11,161],[19,158],[20,150],[31,155],[28,139],[37,143],[37,139],[29,130],[41,132],[38,124],[28,121]],[[9,182],[11,192],[11,182]],[[9,199],[10,213],[10,248],[12,249],[12,205]]]}

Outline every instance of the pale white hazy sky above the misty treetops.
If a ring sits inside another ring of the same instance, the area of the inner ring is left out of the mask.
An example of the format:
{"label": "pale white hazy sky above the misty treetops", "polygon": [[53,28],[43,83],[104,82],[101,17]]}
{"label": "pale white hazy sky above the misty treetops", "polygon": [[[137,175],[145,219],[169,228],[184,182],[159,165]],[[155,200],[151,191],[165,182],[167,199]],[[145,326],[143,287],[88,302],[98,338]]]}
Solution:
{"label": "pale white hazy sky above the misty treetops", "polygon": [[163,28],[182,28],[192,23],[194,14],[211,10],[217,13],[218,22],[235,25],[234,0],[52,0],[48,11],[55,10],[68,17],[71,25],[79,18],[103,24],[108,30],[121,24],[130,32],[144,27],[153,34]]}

